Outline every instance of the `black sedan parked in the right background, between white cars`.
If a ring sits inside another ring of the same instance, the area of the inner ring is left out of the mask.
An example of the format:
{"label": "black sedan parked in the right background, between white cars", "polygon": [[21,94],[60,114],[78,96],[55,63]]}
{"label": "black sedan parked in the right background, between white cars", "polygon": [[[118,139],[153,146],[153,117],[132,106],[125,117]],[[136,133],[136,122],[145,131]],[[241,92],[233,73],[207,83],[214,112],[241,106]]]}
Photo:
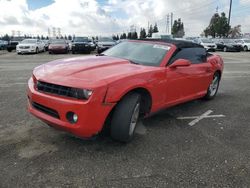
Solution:
{"label": "black sedan parked in the right background, between white cars", "polygon": [[242,50],[241,45],[234,42],[232,39],[213,39],[217,46],[217,50],[224,52],[240,52]]}

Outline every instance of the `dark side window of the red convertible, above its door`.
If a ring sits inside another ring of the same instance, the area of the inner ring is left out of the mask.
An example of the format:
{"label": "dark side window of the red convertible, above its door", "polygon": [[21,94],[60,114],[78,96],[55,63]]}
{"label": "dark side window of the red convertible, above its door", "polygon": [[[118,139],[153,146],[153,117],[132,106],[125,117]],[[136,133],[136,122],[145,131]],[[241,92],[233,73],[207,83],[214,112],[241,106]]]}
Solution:
{"label": "dark side window of the red convertible, above its door", "polygon": [[192,64],[204,63],[203,58],[207,55],[205,48],[183,48],[180,49],[175,55],[171,58],[170,63],[178,59],[187,59],[192,62]]}

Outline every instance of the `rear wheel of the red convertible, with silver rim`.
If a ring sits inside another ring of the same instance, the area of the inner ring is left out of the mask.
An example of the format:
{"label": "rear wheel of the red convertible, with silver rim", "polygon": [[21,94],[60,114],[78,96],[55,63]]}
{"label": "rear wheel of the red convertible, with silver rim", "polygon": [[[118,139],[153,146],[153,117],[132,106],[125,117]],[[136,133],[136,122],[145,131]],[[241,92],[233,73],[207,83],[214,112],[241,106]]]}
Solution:
{"label": "rear wheel of the red convertible, with silver rim", "polygon": [[207,94],[205,95],[204,99],[207,99],[207,100],[213,99],[218,92],[219,85],[220,85],[220,73],[215,72],[214,77],[213,77],[213,81],[209,85],[209,87],[207,89]]}

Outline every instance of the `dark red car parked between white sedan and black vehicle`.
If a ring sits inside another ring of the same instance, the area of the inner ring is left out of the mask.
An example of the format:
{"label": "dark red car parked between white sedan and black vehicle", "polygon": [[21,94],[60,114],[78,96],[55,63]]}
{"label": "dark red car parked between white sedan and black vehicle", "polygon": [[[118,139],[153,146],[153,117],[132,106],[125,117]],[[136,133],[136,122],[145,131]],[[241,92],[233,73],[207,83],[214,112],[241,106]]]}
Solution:
{"label": "dark red car parked between white sedan and black vehicle", "polygon": [[69,45],[64,39],[51,39],[49,41],[48,51],[52,53],[68,53]]}

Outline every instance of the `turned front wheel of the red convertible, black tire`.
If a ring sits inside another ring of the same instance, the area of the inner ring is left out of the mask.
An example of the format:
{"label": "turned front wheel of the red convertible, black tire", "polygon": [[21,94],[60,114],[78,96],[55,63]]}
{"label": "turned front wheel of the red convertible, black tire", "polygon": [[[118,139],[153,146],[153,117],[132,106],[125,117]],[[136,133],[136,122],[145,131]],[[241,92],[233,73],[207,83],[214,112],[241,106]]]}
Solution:
{"label": "turned front wheel of the red convertible, black tire", "polygon": [[114,140],[132,140],[140,116],[140,101],[138,93],[130,93],[117,104],[110,127],[110,135]]}

